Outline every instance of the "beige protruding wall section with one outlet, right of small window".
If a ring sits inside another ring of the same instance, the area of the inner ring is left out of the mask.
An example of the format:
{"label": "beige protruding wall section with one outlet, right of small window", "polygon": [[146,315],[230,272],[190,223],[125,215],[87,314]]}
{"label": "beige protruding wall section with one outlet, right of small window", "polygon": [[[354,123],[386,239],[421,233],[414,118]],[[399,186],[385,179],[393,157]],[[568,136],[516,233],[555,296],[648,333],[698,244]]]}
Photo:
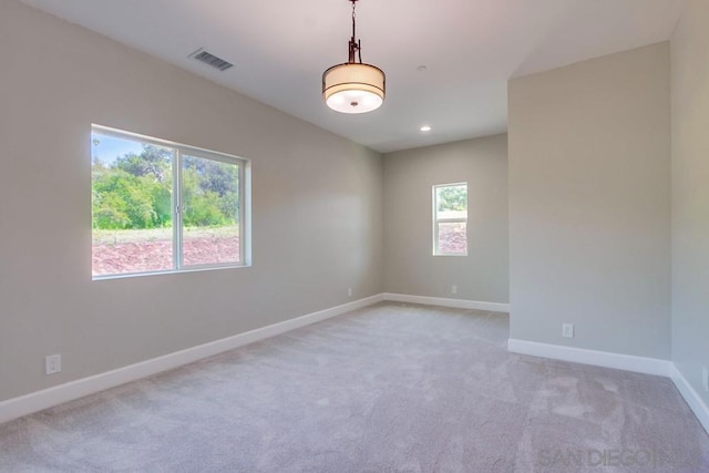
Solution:
{"label": "beige protruding wall section with one outlet, right of small window", "polygon": [[669,358],[669,88],[667,42],[510,82],[511,338]]}

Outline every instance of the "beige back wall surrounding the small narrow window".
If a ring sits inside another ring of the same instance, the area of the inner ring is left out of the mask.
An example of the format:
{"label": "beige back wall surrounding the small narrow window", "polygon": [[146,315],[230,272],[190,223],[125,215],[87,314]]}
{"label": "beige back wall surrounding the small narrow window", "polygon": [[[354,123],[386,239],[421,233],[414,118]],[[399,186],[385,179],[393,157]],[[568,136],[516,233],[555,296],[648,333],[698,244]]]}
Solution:
{"label": "beige back wall surrounding the small narrow window", "polygon": [[[384,289],[506,304],[506,135],[387,154]],[[467,182],[469,254],[432,256],[431,187],[459,182]]]}

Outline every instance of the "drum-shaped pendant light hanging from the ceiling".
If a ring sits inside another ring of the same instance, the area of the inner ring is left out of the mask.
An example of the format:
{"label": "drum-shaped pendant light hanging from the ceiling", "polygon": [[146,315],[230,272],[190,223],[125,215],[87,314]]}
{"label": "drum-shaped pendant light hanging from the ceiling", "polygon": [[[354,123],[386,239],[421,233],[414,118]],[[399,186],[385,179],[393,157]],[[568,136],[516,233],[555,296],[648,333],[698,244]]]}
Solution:
{"label": "drum-shaped pendant light hanging from the ceiling", "polygon": [[356,40],[354,6],[352,2],[352,38],[349,60],[322,73],[322,97],[328,106],[341,113],[366,113],[379,109],[384,101],[387,76],[371,64],[362,63],[362,44]]}

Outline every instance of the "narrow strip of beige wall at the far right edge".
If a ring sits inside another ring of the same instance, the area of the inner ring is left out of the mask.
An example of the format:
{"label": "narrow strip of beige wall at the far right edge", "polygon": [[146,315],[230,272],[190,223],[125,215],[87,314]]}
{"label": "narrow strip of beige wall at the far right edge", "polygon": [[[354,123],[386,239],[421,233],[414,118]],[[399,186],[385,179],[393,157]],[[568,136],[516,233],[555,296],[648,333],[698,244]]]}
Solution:
{"label": "narrow strip of beige wall at the far right edge", "polygon": [[709,2],[690,0],[672,47],[672,361],[709,404]]}

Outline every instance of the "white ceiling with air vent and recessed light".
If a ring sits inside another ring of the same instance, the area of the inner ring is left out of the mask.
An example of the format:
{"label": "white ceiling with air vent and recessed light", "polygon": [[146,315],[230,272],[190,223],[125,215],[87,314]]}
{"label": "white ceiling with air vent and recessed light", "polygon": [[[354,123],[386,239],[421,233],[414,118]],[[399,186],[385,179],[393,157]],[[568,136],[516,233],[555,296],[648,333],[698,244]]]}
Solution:
{"label": "white ceiling with air vent and recessed light", "polygon": [[[362,59],[387,73],[387,100],[345,115],[320,80],[347,61],[348,0],[23,1],[379,152],[504,132],[507,79],[667,40],[685,2],[361,0]],[[198,48],[235,66],[188,59]]]}

